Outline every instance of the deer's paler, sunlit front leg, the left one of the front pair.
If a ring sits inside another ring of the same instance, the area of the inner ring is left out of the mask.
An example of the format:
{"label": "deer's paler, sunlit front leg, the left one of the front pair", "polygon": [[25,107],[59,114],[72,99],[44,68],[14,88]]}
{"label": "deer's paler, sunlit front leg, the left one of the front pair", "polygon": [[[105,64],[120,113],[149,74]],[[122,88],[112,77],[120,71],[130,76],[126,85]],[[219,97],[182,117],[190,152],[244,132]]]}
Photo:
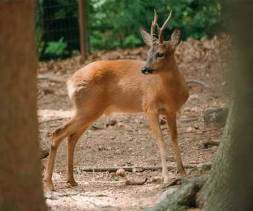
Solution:
{"label": "deer's paler, sunlit front leg, the left one of the front pair", "polygon": [[160,150],[163,182],[167,183],[169,178],[168,178],[168,168],[166,164],[166,144],[164,142],[162,131],[159,124],[159,115],[157,112],[148,112],[147,117],[150,128],[152,130],[152,133],[157,141],[157,145]]}

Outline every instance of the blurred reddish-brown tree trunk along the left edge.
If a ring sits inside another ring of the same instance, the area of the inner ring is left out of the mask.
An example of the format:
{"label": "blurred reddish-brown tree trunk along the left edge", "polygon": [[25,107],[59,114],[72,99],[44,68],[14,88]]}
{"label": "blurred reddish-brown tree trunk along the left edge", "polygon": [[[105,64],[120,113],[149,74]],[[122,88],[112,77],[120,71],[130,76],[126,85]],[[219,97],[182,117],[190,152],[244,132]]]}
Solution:
{"label": "blurred reddish-brown tree trunk along the left edge", "polygon": [[0,2],[0,210],[47,210],[38,147],[34,2]]}

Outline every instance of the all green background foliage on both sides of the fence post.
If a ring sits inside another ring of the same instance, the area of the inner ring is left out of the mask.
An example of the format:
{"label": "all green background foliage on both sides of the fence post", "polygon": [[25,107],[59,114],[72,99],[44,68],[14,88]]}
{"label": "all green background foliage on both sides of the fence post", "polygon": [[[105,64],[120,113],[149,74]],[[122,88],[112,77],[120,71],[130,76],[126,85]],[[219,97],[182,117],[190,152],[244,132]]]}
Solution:
{"label": "all green background foliage on both sides of the fence post", "polygon": [[[38,2],[36,36],[41,58],[48,55],[53,57],[70,55],[73,50],[79,48],[77,1],[38,0]],[[217,32],[222,23],[220,0],[88,0],[87,2],[91,50],[142,45],[139,29],[143,27],[149,31],[154,9],[159,15],[159,25],[167,18],[170,10],[173,11],[171,22],[165,32],[166,39],[169,39],[174,28],[182,30],[183,39],[209,37]],[[70,21],[69,27],[67,23]],[[68,31],[68,28],[72,31]]]}

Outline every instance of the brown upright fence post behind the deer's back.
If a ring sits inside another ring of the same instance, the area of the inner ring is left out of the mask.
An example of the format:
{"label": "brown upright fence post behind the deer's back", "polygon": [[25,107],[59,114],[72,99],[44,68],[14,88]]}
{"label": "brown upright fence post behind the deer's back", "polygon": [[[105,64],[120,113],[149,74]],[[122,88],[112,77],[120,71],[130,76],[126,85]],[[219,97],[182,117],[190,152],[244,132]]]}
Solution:
{"label": "brown upright fence post behind the deer's back", "polygon": [[87,1],[79,0],[79,33],[80,33],[80,63],[83,64],[88,56],[87,33]]}

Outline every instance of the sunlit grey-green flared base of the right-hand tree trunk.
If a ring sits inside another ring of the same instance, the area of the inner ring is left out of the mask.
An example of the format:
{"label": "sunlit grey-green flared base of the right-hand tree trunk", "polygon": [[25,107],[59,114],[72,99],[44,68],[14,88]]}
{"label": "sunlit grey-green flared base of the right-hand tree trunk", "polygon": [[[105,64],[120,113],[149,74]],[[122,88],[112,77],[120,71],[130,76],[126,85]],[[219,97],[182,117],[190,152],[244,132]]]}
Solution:
{"label": "sunlit grey-green flared base of the right-hand tree trunk", "polygon": [[232,169],[231,151],[232,145],[234,144],[234,140],[231,139],[233,115],[234,112],[232,108],[224,129],[221,144],[216,153],[209,179],[200,193],[199,203],[202,206],[203,203],[205,203],[206,210],[231,210],[229,202],[231,198],[229,177],[231,176]]}

